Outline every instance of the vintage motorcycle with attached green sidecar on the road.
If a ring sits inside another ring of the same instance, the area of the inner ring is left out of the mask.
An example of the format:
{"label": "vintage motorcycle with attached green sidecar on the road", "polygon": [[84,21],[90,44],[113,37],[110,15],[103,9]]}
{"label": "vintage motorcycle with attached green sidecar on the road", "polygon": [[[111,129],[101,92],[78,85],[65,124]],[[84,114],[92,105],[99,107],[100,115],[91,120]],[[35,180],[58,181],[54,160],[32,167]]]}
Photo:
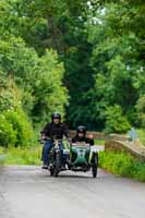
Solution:
{"label": "vintage motorcycle with attached green sidecar on the road", "polygon": [[68,148],[63,152],[60,149],[60,144],[64,144],[60,140],[53,141],[53,146],[49,155],[50,175],[58,177],[61,171],[83,171],[92,170],[93,178],[97,177],[98,169],[98,153],[90,152],[90,145],[86,143],[67,143]]}

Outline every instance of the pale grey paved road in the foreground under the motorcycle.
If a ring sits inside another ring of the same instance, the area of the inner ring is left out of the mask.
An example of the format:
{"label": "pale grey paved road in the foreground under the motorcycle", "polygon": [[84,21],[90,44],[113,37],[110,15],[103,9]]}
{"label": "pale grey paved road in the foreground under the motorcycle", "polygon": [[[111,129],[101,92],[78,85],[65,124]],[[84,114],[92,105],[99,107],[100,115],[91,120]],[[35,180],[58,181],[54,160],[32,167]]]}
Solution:
{"label": "pale grey paved road in the foreground under the motorcycle", "polygon": [[39,167],[0,167],[0,218],[144,218],[145,184],[101,170],[50,178]]}

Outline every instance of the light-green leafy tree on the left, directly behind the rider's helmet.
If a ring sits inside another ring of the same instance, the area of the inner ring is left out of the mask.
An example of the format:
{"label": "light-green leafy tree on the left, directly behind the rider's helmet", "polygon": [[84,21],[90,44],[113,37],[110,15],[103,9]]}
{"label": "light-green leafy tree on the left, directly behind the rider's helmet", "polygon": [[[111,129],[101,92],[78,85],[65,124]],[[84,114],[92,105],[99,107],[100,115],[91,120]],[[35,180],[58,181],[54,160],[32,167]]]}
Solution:
{"label": "light-green leafy tree on the left, directly behind the rider's helmet", "polygon": [[35,121],[45,121],[52,110],[64,112],[67,89],[62,86],[63,64],[52,50],[38,57],[21,38],[0,41],[0,65],[5,76],[21,88],[24,110]]}

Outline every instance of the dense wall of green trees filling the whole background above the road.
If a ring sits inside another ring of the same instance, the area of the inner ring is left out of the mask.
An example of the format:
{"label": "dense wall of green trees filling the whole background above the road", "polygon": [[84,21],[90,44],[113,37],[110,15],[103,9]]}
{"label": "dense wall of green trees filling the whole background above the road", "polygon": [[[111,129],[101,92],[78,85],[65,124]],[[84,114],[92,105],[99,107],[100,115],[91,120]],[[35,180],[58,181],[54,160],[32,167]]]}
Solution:
{"label": "dense wall of green trees filling the whole background above the road", "polygon": [[1,114],[37,130],[56,110],[70,128],[144,128],[144,12],[143,0],[1,0]]}

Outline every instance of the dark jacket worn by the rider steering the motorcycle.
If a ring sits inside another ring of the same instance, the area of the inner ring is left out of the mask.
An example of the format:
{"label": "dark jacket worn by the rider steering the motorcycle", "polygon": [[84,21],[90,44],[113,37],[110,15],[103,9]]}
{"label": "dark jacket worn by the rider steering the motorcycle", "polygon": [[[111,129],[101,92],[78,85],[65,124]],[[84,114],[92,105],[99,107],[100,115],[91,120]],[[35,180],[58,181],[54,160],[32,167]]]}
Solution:
{"label": "dark jacket worn by the rider steering the motorcycle", "polygon": [[52,140],[62,140],[63,136],[69,137],[69,130],[64,123],[56,124],[53,122],[50,122],[46,124],[46,126],[41,131],[41,134]]}

